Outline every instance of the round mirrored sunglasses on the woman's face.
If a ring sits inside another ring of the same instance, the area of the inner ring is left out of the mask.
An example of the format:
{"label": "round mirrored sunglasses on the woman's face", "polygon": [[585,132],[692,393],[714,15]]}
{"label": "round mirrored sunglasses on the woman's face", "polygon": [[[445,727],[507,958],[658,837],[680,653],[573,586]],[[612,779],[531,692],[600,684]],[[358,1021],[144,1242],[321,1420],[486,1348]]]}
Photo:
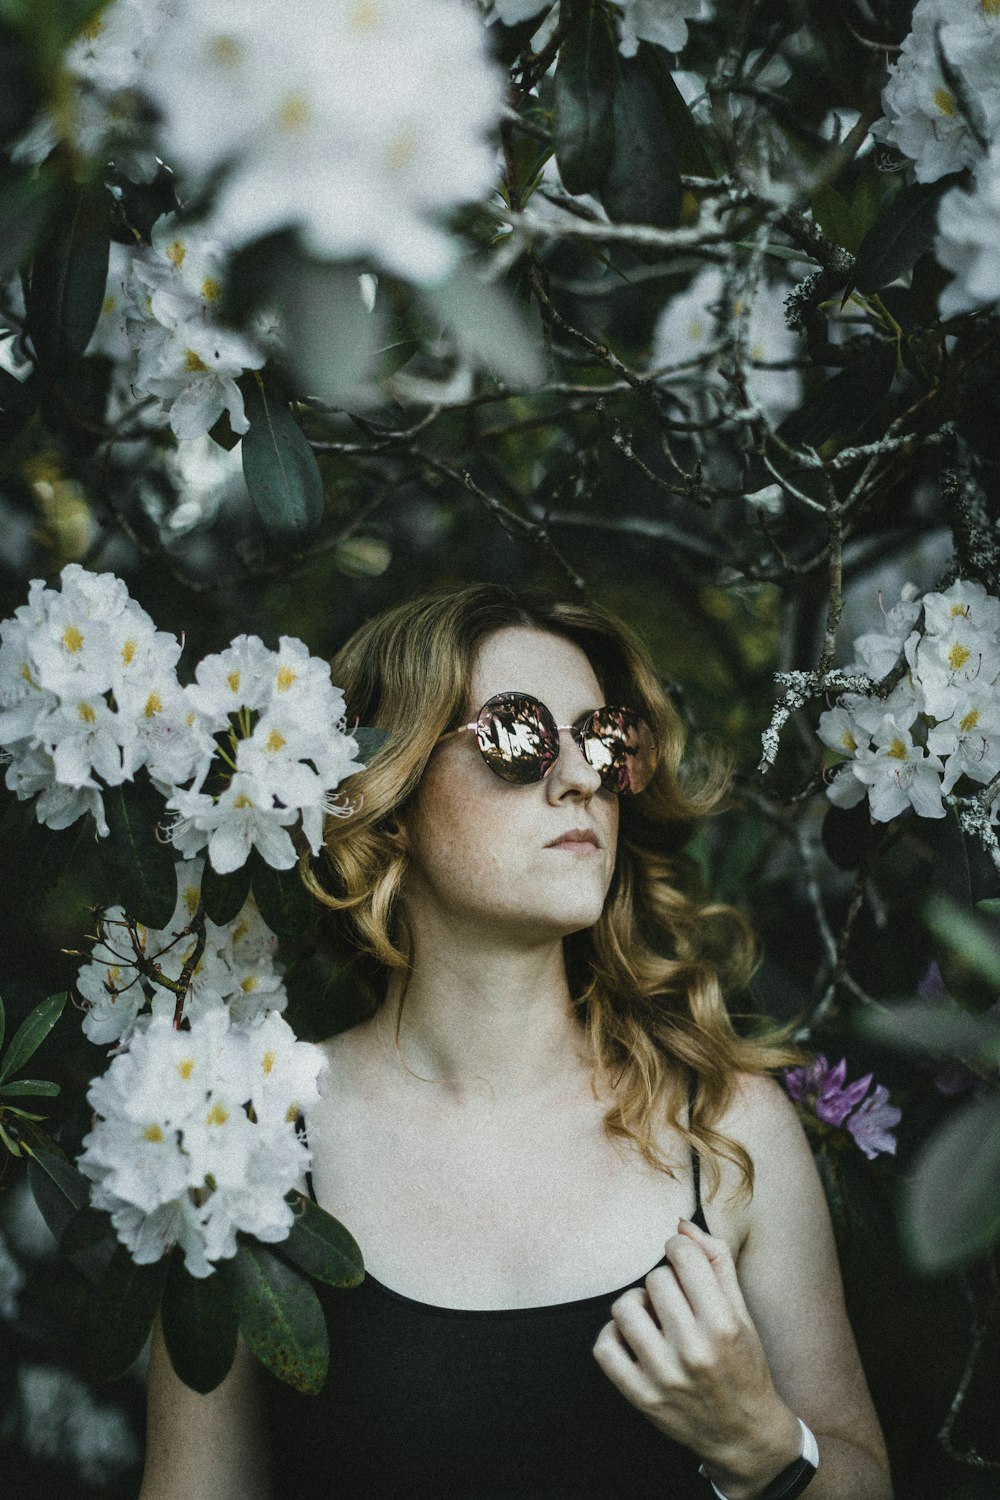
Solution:
{"label": "round mirrored sunglasses on the woman's face", "polygon": [[541,782],[556,764],[562,729],[570,730],[604,790],[636,796],[649,786],[657,768],[652,730],[634,710],[619,705],[595,708],[576,724],[558,724],[531,693],[496,693],[471,723],[441,738],[474,730],[493,776],[528,786]]}

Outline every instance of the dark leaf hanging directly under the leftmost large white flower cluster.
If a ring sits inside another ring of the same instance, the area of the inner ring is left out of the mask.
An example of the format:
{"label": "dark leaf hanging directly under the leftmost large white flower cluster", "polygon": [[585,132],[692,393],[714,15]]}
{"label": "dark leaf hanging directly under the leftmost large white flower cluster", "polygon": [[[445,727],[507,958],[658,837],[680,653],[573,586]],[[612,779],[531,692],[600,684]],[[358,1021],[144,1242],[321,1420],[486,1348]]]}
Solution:
{"label": "dark leaf hanging directly under the leftmost large white flower cluster", "polygon": [[169,844],[157,837],[163,798],[147,782],[126,782],[103,794],[109,836],[100,855],[115,900],[147,927],[165,927],[177,904]]}

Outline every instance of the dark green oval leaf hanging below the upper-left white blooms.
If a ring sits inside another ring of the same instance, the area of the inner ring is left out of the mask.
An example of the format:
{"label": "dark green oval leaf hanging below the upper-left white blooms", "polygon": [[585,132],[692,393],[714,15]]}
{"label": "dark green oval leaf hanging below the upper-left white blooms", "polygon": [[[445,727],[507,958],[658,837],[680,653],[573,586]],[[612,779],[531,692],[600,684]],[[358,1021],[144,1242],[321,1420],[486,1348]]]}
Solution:
{"label": "dark green oval leaf hanging below the upper-left white blooms", "polygon": [[288,405],[253,372],[244,382],[250,430],[243,438],[243,477],[274,537],[304,543],[322,522],[322,476]]}

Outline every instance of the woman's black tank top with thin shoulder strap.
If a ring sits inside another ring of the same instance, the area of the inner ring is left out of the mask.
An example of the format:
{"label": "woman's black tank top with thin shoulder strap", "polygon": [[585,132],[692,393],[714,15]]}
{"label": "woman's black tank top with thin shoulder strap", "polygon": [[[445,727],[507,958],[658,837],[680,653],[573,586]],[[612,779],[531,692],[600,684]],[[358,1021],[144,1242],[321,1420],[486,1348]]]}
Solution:
{"label": "woman's black tank top with thin shoulder strap", "polygon": [[[691,1166],[691,1218],[708,1232],[697,1155]],[[705,1500],[694,1454],[643,1418],[594,1359],[610,1305],[628,1287],[501,1310],[417,1302],[372,1275],[352,1288],[318,1287],[330,1335],[324,1389],[303,1396],[265,1377],[274,1494]]]}

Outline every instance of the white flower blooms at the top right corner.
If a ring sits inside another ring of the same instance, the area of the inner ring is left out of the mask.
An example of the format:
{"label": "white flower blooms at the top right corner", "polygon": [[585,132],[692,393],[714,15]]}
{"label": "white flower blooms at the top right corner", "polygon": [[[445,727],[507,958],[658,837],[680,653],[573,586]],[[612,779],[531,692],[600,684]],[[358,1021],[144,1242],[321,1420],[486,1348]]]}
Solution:
{"label": "white flower blooms at the top right corner", "polygon": [[882,102],[874,134],[910,158],[918,182],[975,171],[972,189],[954,188],[939,210],[937,258],[955,276],[942,292],[942,315],[999,302],[1000,3],[918,0]]}

